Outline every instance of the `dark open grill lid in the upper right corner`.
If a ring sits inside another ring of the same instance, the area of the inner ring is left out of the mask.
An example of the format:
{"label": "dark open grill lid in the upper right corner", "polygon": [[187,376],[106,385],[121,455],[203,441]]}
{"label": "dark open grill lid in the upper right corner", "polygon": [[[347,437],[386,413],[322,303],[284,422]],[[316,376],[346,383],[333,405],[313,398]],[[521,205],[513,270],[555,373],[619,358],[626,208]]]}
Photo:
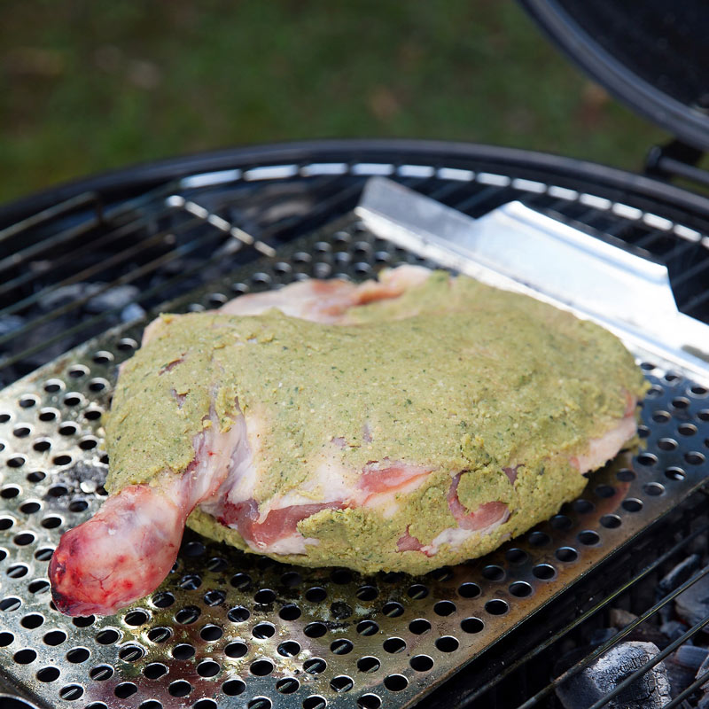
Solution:
{"label": "dark open grill lid in the upper right corner", "polygon": [[557,46],[615,97],[709,149],[709,14],[702,0],[521,0]]}

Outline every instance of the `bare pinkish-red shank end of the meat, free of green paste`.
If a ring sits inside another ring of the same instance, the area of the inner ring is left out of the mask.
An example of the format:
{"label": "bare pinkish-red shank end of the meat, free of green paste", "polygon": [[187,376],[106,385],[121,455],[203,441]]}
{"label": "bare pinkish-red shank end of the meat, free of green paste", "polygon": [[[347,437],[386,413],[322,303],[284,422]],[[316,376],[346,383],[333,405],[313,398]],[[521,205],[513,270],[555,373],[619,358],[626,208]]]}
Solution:
{"label": "bare pinkish-red shank end of the meat, free of green paste", "polygon": [[97,513],[70,529],[51,557],[54,604],[67,615],[108,615],[149,594],[175,564],[184,523],[226,479],[243,417],[220,432],[218,417],[193,439],[194,461],[182,475],[111,495]]}

